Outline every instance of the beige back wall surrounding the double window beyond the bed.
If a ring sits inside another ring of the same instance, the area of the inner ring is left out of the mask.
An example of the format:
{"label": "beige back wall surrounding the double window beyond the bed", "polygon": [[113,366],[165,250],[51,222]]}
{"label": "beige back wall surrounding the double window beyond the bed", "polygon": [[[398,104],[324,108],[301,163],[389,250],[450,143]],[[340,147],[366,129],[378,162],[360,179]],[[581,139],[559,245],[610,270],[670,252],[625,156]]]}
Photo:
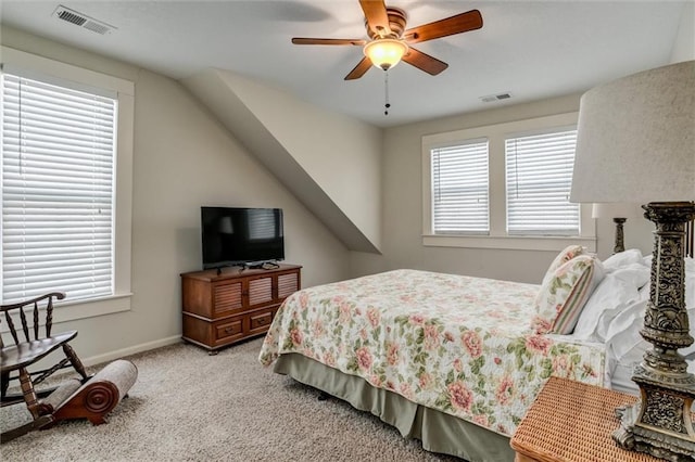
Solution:
{"label": "beige back wall surrounding the double window beyond the bed", "polygon": [[[422,245],[421,138],[425,134],[563,114],[579,110],[580,94],[482,111],[387,129],[383,153],[382,256],[352,253],[353,274],[416,268],[540,283],[557,252],[430,247]],[[615,228],[599,220],[597,252],[612,252]],[[630,220],[626,245],[650,251],[650,227]]]}

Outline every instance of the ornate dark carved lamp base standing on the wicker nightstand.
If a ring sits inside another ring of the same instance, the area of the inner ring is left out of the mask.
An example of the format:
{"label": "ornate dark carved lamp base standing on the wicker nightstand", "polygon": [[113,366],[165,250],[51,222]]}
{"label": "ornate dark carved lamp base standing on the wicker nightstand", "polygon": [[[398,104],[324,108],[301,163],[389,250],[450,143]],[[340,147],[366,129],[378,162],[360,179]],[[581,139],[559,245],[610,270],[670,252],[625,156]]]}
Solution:
{"label": "ornate dark carved lamp base standing on the wicker nightstand", "polygon": [[693,344],[685,309],[683,243],[694,202],[649,203],[645,218],[656,224],[649,300],[642,337],[652,344],[632,375],[641,401],[616,410],[614,440],[622,448],[672,462],[695,460],[691,408],[695,375],[678,349]]}

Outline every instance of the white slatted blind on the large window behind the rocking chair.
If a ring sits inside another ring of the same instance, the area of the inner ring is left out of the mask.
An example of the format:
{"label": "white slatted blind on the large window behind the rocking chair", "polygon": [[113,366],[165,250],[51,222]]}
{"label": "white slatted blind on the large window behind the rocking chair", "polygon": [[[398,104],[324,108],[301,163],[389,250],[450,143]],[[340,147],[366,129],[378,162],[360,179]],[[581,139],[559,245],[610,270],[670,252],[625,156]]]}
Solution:
{"label": "white slatted blind on the large window behind the rocking chair", "polygon": [[2,303],[114,292],[115,99],[2,75]]}

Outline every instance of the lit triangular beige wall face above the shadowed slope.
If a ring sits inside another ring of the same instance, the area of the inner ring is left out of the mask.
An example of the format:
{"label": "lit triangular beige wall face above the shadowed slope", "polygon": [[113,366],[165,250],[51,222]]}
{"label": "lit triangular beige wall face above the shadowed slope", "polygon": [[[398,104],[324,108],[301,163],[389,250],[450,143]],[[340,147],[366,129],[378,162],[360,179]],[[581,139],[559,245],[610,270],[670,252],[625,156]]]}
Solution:
{"label": "lit triangular beige wall face above the shadowed slope", "polygon": [[255,80],[232,73],[224,76],[264,127],[379,248],[381,130]]}

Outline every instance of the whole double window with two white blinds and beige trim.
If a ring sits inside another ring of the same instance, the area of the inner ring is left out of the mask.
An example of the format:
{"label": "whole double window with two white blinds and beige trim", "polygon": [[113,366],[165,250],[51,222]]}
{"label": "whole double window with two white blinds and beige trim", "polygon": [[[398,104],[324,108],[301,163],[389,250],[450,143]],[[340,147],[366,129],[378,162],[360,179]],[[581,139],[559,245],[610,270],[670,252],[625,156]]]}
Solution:
{"label": "whole double window with two white blinds and beige trim", "polygon": [[422,137],[424,244],[594,249],[591,205],[569,203],[576,124],[571,113]]}

